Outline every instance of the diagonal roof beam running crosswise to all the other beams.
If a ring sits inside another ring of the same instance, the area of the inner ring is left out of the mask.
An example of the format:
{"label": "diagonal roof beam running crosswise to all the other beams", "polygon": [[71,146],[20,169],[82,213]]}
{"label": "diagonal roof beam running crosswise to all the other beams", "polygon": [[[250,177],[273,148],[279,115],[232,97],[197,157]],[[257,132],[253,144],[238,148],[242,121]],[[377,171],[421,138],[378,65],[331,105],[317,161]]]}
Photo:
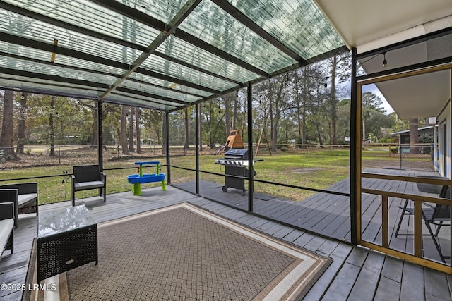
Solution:
{"label": "diagonal roof beam running crosswise to all the other beams", "polygon": [[147,47],[147,49],[145,51],[143,51],[141,53],[141,55],[138,56],[138,58],[132,63],[129,70],[127,70],[126,73],[124,73],[123,77],[119,78],[116,82],[114,82],[114,84],[110,86],[109,90],[105,91],[105,93],[99,97],[99,100],[105,99],[105,97],[107,97],[108,94],[110,94],[112,91],[117,89],[117,87],[119,87],[119,85],[121,85],[121,83],[124,80],[126,80],[126,78],[128,78],[133,72],[135,72],[138,69],[138,67],[146,59],[148,59],[148,57],[151,54],[153,54],[153,52],[155,50],[157,50],[157,48],[160,46],[160,44],[165,42],[165,39],[167,39],[169,37],[169,35],[171,35],[172,32],[174,32],[174,30],[176,30],[177,26],[179,26],[185,20],[185,18],[189,16],[191,11],[193,11],[194,8],[196,8],[196,6],[198,6],[198,4],[200,2],[201,2],[201,0],[186,1],[186,4],[184,4],[184,6],[176,14],[176,16],[174,16],[174,18],[172,18],[172,20],[169,21],[169,24],[166,26],[165,30],[163,30],[162,32],[160,32],[159,35],[157,35],[157,37]]}

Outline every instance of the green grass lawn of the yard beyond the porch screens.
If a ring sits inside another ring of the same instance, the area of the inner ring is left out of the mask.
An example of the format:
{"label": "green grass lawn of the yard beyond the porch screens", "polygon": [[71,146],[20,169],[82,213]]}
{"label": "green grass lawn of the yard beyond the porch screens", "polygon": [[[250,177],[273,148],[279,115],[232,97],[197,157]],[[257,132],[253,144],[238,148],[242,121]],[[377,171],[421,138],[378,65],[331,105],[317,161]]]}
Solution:
{"label": "green grass lawn of the yard beyond the porch screens", "polygon": [[[326,189],[328,186],[350,176],[350,152],[348,150],[319,150],[318,152],[278,152],[270,155],[268,153],[258,154],[256,159],[263,161],[256,162],[256,180],[267,180],[274,183],[286,183],[306,188]],[[225,166],[215,164],[215,159],[222,158],[222,154],[213,156],[202,154],[199,156],[201,171],[220,173],[220,176],[201,173],[202,180],[209,180],[219,184],[224,184]],[[366,158],[371,159],[369,157]],[[398,160],[396,157],[376,157],[381,162]],[[126,176],[136,173],[134,161],[160,161],[165,163],[165,158],[152,159],[114,159],[105,161],[104,168],[107,174],[107,193],[124,192],[131,190],[131,184],[126,180]],[[371,161],[371,160],[370,160]],[[195,156],[172,156],[170,161],[172,166],[195,169]],[[78,164],[73,164],[78,165]],[[376,166],[378,167],[378,166]],[[108,170],[109,168],[128,168]],[[70,199],[71,180],[63,175],[63,171],[71,173],[71,165],[20,167],[0,170],[0,178],[17,179],[26,177],[46,177],[29,180],[14,180],[14,182],[37,181],[39,183],[40,203],[53,203]],[[145,173],[155,173],[154,167],[145,167]],[[161,168],[162,173],[167,173],[167,168]],[[48,177],[54,176],[54,177]],[[171,169],[172,183],[184,183],[195,180],[194,171],[186,171],[179,168]],[[7,183],[2,182],[0,184]],[[143,184],[142,188],[158,186],[160,183]],[[255,192],[260,192],[275,197],[292,200],[302,200],[314,194],[308,190],[295,188],[284,188],[278,185],[255,183]],[[96,195],[96,190],[77,192],[76,198]]]}

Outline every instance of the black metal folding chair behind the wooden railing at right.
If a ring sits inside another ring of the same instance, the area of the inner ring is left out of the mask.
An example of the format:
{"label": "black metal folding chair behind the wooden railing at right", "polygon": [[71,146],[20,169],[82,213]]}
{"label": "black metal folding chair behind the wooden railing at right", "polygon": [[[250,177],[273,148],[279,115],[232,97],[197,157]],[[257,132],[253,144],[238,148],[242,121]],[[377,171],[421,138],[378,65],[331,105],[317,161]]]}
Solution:
{"label": "black metal folding chair behind the wooden railing at right", "polygon": [[[424,184],[425,185],[425,184]],[[448,185],[436,185],[441,187],[441,191],[439,192],[439,197],[450,199],[451,198],[451,188]],[[419,186],[418,186],[419,188]],[[426,186],[427,188],[427,186]],[[429,188],[430,193],[437,192],[437,188],[430,186]],[[422,186],[420,187],[420,191],[422,190]],[[400,236],[412,236],[414,234],[411,233],[399,233],[400,226],[402,225],[403,217],[405,215],[414,215],[415,209],[412,207],[408,207],[408,201],[409,199],[405,199],[405,204],[403,207],[399,207],[400,209],[403,209],[402,215],[400,216],[400,220],[398,222],[397,230],[396,230],[396,237],[398,235]],[[424,206],[422,208],[422,220],[425,223],[425,226],[427,227],[427,230],[429,231],[428,234],[422,234],[422,235],[430,235],[432,237],[432,240],[434,242],[434,245],[436,247],[436,250],[438,251],[439,257],[441,257],[442,262],[446,262],[446,258],[451,258],[450,256],[444,256],[441,252],[441,247],[439,246],[439,238],[438,233],[441,229],[441,226],[450,226],[451,225],[451,207],[449,205],[444,204],[436,204],[435,206],[432,206],[431,204],[422,202],[422,205]],[[432,225],[436,226],[436,231],[432,231]]]}

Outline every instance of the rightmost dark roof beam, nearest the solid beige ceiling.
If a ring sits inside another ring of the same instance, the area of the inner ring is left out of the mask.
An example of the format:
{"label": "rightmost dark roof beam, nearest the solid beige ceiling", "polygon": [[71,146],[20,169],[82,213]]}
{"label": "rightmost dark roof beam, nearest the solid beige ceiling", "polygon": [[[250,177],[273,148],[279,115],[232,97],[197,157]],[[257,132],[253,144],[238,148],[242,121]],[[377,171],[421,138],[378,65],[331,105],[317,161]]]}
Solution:
{"label": "rightmost dark roof beam, nearest the solid beige ceiling", "polygon": [[275,37],[266,32],[266,30],[263,30],[262,27],[254,23],[253,20],[248,18],[244,13],[242,13],[242,11],[239,11],[229,1],[227,0],[210,0],[210,1],[215,3],[217,6],[222,8],[223,11],[226,11],[240,23],[242,23],[250,30],[255,32],[257,35],[259,35],[259,37],[265,39],[268,43],[272,44],[274,47],[278,48],[280,51],[287,54],[287,56],[290,56],[292,59],[295,59],[295,61],[302,65],[306,63],[306,61],[301,56],[299,56],[299,54],[285,46],[285,44],[281,43],[278,39],[275,39]]}

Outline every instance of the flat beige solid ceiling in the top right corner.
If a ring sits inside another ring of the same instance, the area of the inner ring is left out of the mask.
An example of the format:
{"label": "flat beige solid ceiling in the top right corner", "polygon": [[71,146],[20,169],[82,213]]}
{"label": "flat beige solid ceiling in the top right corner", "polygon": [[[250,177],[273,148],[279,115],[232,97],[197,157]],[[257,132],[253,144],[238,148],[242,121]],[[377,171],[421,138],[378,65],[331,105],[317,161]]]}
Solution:
{"label": "flat beige solid ceiling in the top right corner", "polygon": [[452,16],[452,0],[314,1],[329,18],[345,44],[350,48],[357,47],[358,50],[377,39]]}

